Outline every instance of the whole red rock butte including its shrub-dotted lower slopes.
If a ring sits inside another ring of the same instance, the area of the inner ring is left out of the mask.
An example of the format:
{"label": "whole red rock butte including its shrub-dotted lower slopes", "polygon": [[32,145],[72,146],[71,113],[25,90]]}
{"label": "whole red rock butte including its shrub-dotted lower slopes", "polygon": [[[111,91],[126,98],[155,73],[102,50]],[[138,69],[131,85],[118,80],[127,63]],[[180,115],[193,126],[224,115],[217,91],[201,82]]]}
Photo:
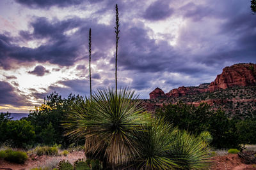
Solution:
{"label": "whole red rock butte including its shrub-dotted lower slopes", "polygon": [[234,64],[225,67],[211,83],[197,87],[179,87],[164,93],[158,87],[144,99],[148,111],[155,111],[163,104],[182,101],[199,106],[207,103],[212,109],[224,110],[230,117],[256,118],[256,64]]}

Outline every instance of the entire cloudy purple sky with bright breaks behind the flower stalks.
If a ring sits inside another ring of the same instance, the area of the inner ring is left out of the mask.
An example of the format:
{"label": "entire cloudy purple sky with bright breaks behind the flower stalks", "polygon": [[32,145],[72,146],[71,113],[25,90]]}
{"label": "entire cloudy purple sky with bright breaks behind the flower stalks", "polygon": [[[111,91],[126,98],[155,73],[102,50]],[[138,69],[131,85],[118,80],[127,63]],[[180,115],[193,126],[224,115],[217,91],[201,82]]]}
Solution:
{"label": "entire cloudy purple sky with bright breaks behind the flower stalks", "polygon": [[256,62],[250,0],[1,0],[0,111],[28,113],[54,91],[88,96],[90,27],[93,90],[114,87],[116,3],[118,86],[141,99]]}

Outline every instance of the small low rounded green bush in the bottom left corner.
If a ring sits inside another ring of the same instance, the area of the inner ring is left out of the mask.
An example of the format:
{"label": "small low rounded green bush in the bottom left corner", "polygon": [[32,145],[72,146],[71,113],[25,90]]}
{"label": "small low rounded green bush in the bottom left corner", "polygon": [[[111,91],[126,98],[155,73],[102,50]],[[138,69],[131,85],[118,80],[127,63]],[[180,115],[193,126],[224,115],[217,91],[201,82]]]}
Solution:
{"label": "small low rounded green bush in the bottom left corner", "polygon": [[14,151],[11,149],[2,150],[0,152],[0,157],[4,160],[13,162],[16,164],[24,164],[24,162],[28,159],[28,155],[26,152]]}

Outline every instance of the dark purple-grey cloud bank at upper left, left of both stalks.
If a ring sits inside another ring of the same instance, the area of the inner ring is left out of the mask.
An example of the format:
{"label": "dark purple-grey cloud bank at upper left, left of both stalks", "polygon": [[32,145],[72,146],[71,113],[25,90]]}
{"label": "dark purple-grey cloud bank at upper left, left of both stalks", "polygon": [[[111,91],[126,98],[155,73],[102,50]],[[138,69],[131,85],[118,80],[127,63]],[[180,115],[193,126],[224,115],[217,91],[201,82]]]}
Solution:
{"label": "dark purple-grey cloud bank at upper left, left of both stalks", "polygon": [[[50,22],[46,18],[37,18],[31,23],[33,33],[20,32],[20,36],[26,35],[29,39],[50,38],[49,43],[38,48],[20,47],[12,42],[12,38],[0,35],[0,66],[10,69],[10,60],[18,62],[50,62],[60,66],[72,66],[79,57],[81,41],[66,36],[65,31],[78,27],[81,20],[72,18],[69,20]],[[81,40],[81,39],[80,39]]]}

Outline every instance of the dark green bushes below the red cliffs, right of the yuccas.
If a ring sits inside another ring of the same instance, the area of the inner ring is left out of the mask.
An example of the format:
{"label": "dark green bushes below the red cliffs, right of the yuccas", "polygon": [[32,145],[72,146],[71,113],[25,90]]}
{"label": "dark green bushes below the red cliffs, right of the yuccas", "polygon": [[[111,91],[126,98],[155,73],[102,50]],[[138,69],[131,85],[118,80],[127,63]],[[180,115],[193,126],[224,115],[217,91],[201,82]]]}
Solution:
{"label": "dark green bushes below the red cliffs, right of the yuccas", "polygon": [[[212,136],[212,139],[209,136],[209,141],[216,148],[238,148],[241,144],[236,133],[236,122],[229,120],[224,111],[213,111],[206,103],[198,107],[181,101],[167,104],[156,110],[156,117],[163,117],[166,122],[195,135],[208,131],[208,135]],[[201,138],[207,140],[205,135],[201,134]]]}

